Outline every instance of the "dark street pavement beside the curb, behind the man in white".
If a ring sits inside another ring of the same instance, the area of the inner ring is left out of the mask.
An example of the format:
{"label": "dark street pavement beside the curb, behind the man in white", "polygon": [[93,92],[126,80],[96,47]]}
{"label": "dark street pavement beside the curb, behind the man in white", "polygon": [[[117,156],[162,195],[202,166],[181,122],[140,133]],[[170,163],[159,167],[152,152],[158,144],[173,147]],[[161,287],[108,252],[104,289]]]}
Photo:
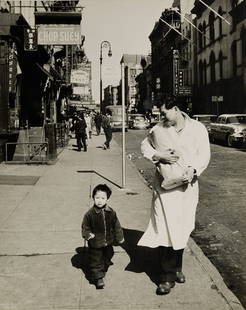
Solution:
{"label": "dark street pavement beside the curb, behind the man in white", "polygon": [[[129,130],[126,154],[149,183],[153,165],[140,153],[148,130]],[[121,145],[121,133],[114,133]],[[245,149],[211,144],[211,161],[200,178],[200,200],[192,237],[246,306]]]}

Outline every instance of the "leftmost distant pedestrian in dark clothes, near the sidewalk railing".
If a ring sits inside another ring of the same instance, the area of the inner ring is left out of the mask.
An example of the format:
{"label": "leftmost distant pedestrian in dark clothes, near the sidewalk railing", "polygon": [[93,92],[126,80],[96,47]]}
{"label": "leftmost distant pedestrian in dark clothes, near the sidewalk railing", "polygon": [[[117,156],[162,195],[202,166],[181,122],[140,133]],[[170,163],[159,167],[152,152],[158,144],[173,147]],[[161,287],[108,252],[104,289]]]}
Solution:
{"label": "leftmost distant pedestrian in dark clothes, near the sidewalk railing", "polygon": [[87,151],[87,142],[86,142],[86,122],[84,119],[84,114],[76,115],[74,119],[74,124],[72,131],[75,131],[75,138],[77,140],[78,151],[81,152],[81,148],[84,148],[84,152]]}

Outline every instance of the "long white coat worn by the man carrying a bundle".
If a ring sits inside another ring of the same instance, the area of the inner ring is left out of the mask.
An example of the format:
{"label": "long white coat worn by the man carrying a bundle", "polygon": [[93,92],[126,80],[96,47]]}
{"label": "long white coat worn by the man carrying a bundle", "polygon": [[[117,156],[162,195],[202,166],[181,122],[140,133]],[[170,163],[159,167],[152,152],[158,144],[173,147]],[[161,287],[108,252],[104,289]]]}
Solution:
{"label": "long white coat worn by the man carrying a bundle", "polygon": [[[153,146],[149,138],[143,140],[141,151],[149,160],[155,151],[166,147],[177,150],[184,162],[197,171],[197,176],[206,169],[210,160],[210,145],[207,129],[203,124],[183,113],[185,126],[177,133],[173,126],[157,124],[150,130],[158,145]],[[169,137],[169,145],[167,138]],[[163,143],[162,143],[163,140]],[[153,141],[153,140],[152,140]],[[138,245],[147,247],[171,246],[175,250],[185,248],[195,227],[195,213],[198,203],[198,181],[188,187],[165,190],[161,187],[163,178],[156,171],[153,182],[153,199],[150,221]]]}

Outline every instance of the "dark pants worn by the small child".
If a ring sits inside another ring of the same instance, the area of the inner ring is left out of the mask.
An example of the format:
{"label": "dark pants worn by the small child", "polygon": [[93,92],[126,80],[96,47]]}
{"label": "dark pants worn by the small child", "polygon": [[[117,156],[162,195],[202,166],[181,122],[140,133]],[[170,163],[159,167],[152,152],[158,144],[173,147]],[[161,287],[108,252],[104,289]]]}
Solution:
{"label": "dark pants worn by the small child", "polygon": [[89,248],[90,272],[92,280],[101,279],[108,271],[108,267],[112,264],[111,258],[114,255],[112,245],[103,248]]}

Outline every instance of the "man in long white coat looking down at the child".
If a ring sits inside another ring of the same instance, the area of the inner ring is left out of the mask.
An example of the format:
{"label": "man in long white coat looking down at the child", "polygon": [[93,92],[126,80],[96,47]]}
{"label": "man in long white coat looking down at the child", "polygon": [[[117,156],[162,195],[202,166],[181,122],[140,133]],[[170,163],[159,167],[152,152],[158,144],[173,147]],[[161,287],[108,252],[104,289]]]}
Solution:
{"label": "man in long white coat looking down at the child", "polygon": [[[185,282],[183,252],[195,227],[198,177],[208,166],[210,145],[205,126],[182,112],[175,98],[166,101],[160,110],[163,120],[150,130],[141,150],[156,166],[174,164],[182,157],[184,185],[164,189],[161,169],[156,169],[150,221],[138,245],[158,247],[161,273],[156,293],[164,295],[175,282]],[[160,147],[162,140],[168,145]]]}

